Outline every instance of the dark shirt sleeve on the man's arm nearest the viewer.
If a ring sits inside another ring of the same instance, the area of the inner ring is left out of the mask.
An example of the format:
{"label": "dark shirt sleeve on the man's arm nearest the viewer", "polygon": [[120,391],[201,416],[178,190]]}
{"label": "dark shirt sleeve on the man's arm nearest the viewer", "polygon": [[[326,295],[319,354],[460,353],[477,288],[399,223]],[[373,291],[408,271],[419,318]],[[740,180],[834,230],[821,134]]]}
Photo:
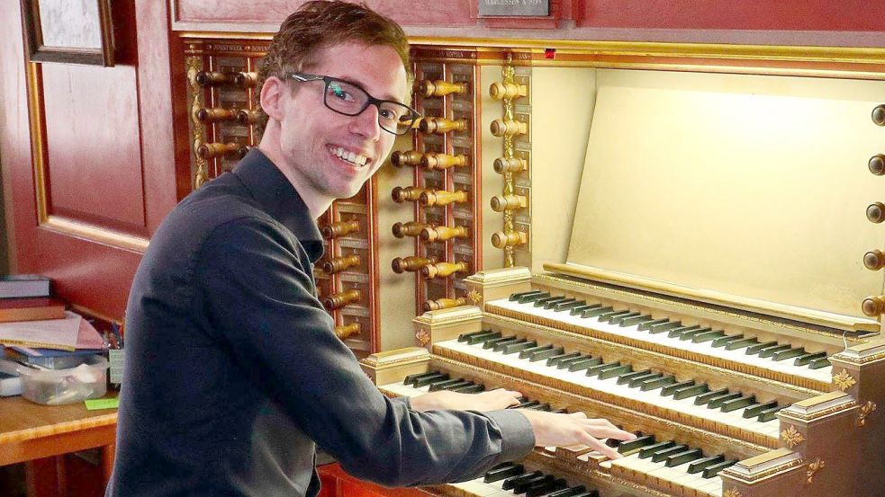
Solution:
{"label": "dark shirt sleeve on the man's arm nearest the viewer", "polygon": [[534,445],[515,411],[411,410],[382,395],[333,333],[300,244],[255,218],[219,226],[196,264],[217,340],[351,475],[388,486],[482,475]]}

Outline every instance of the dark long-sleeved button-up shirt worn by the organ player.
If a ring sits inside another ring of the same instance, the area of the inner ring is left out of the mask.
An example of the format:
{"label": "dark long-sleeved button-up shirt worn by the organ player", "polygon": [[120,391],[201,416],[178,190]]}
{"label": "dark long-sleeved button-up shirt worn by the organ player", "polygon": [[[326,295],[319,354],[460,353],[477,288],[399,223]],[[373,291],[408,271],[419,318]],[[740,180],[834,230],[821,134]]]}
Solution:
{"label": "dark long-sleeved button-up shirt worn by the organ player", "polygon": [[257,150],[183,200],[132,283],[108,496],[315,495],[315,446],[389,486],[482,474],[534,443],[519,413],[388,399],[315,297],[322,242]]}

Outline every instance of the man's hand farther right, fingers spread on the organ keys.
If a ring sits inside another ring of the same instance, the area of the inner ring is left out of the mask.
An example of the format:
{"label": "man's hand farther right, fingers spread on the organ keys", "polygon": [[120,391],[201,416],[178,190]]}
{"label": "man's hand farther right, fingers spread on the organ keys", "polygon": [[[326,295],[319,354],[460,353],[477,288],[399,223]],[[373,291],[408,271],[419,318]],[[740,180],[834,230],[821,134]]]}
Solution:
{"label": "man's hand farther right, fingers spread on the organ keys", "polygon": [[544,411],[519,409],[525,414],[535,432],[535,445],[542,447],[568,447],[586,445],[612,459],[621,457],[618,451],[610,448],[600,439],[632,440],[636,435],[619,430],[609,420],[589,419],[584,413],[556,414]]}

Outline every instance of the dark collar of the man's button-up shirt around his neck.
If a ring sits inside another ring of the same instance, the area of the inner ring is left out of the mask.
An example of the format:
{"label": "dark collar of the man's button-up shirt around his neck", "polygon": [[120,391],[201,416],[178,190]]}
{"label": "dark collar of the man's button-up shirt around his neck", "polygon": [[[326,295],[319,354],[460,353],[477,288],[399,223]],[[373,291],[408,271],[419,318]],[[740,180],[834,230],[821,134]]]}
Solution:
{"label": "dark collar of the man's button-up shirt around his neck", "polygon": [[301,195],[276,165],[253,148],[234,168],[239,181],[267,214],[298,238],[312,262],[320,259],[322,237]]}

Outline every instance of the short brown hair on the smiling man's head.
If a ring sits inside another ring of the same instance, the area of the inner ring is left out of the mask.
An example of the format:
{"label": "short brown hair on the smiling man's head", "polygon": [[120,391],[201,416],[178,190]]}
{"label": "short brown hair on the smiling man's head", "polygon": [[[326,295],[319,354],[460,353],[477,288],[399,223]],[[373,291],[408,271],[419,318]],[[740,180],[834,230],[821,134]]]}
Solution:
{"label": "short brown hair on the smiling man's head", "polygon": [[[303,4],[280,25],[258,67],[257,87],[261,88],[270,76],[282,79],[287,73],[311,66],[317,62],[314,57],[321,49],[348,41],[392,48],[402,59],[406,73],[411,74],[409,41],[399,24],[376,13],[366,4],[312,0]],[[255,105],[254,109],[259,111],[257,131],[261,133],[267,116],[261,111],[260,105]]]}

